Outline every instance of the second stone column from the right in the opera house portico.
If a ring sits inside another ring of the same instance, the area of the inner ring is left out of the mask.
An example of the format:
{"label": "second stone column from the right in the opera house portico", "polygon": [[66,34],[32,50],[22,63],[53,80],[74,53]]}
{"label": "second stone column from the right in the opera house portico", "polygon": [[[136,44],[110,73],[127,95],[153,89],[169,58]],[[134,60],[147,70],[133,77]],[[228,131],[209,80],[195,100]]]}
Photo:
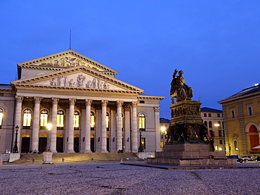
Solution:
{"label": "second stone column from the right in the opera house portico", "polygon": [[117,151],[123,149],[122,144],[122,105],[124,101],[117,101]]}

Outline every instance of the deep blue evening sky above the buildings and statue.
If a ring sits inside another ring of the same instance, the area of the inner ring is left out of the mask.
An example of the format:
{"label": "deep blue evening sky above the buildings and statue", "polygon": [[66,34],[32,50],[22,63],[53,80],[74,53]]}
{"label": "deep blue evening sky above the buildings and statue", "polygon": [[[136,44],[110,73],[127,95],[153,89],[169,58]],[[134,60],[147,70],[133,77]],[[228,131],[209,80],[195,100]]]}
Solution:
{"label": "deep blue evening sky above the buildings and statue", "polygon": [[117,79],[165,96],[175,68],[202,107],[260,82],[259,0],[0,1],[0,83],[17,63],[72,49],[117,70]]}

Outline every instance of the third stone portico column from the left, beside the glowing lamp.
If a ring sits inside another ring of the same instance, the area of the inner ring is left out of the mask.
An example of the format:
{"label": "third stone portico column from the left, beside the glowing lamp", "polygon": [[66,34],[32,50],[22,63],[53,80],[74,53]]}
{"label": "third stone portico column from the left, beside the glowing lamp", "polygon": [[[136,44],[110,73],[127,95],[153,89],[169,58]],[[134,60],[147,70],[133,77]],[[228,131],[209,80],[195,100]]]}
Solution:
{"label": "third stone portico column from the left, beside the glowing lamp", "polygon": [[51,151],[56,153],[57,142],[57,111],[58,111],[58,98],[51,99],[53,102],[53,109],[51,113]]}

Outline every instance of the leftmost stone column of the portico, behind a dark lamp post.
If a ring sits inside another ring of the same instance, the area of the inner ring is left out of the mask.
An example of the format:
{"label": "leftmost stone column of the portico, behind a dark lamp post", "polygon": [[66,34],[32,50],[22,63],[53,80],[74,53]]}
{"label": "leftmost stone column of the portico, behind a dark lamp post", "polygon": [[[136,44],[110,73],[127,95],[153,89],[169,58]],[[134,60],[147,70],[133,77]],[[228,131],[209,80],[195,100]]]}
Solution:
{"label": "leftmost stone column of the portico, behind a dark lamp post", "polygon": [[[14,130],[13,130],[13,143],[15,142],[15,127],[18,126],[19,130],[18,130],[18,137],[17,137],[17,146],[18,146],[18,152],[20,153],[20,132],[22,129],[22,100],[23,100],[23,96],[15,96],[15,101],[16,101],[16,105],[15,105],[15,126],[14,126]],[[13,144],[14,146],[14,144]]]}

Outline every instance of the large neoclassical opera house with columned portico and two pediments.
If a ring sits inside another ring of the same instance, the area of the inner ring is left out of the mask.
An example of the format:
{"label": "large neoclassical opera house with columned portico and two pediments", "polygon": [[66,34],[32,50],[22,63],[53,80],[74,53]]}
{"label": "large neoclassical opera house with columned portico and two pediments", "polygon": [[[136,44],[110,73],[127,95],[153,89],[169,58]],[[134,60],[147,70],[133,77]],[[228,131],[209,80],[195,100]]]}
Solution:
{"label": "large neoclassical opera house with columned portico and two pediments", "polygon": [[15,142],[19,153],[42,152],[47,141],[53,152],[138,152],[140,141],[160,151],[164,97],[116,75],[72,50],[18,63],[18,80],[0,85],[0,152]]}

